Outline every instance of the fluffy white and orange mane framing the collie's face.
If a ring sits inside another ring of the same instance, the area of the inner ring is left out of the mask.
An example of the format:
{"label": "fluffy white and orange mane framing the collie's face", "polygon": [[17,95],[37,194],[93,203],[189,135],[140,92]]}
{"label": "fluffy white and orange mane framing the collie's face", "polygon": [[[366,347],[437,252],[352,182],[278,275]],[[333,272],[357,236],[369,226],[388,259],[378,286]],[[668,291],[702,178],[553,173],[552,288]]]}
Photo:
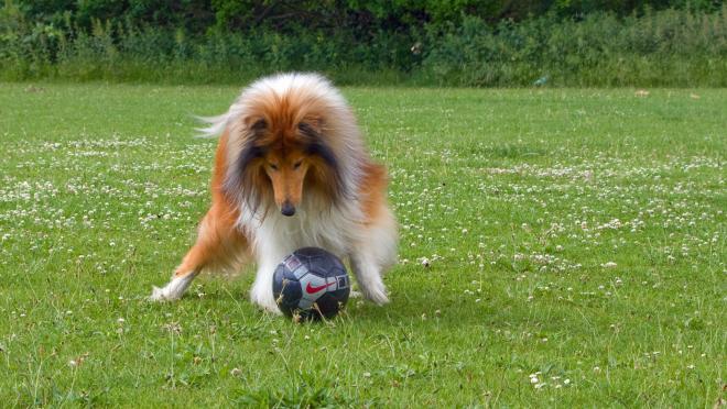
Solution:
{"label": "fluffy white and orange mane framing the collie's face", "polygon": [[[247,87],[221,115],[200,118],[203,136],[227,132],[225,190],[253,212],[267,212],[270,195],[261,191],[260,168],[248,168],[258,155],[256,126],[264,122],[292,122],[311,139],[311,154],[321,157],[327,170],[317,175],[332,203],[351,198],[368,162],[356,120],[344,97],[316,74],[284,74],[263,78]],[[315,125],[312,123],[314,122]],[[335,189],[335,190],[330,190]],[[262,206],[260,206],[262,204]]]}

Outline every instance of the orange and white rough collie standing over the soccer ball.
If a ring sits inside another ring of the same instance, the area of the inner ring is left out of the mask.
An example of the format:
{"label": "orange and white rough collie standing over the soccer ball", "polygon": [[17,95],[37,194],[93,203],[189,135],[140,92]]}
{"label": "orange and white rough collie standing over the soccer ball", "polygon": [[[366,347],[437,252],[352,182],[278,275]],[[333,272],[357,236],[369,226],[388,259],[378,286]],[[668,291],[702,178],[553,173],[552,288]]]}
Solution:
{"label": "orange and white rough collie standing over the soccer ball", "polygon": [[262,78],[207,122],[207,135],[221,134],[211,207],[172,280],[151,299],[178,299],[200,272],[254,261],[251,299],[279,313],[275,266],[296,248],[317,246],[348,258],[362,295],[387,302],[382,274],[397,258],[387,172],[371,161],[330,82],[314,74]]}

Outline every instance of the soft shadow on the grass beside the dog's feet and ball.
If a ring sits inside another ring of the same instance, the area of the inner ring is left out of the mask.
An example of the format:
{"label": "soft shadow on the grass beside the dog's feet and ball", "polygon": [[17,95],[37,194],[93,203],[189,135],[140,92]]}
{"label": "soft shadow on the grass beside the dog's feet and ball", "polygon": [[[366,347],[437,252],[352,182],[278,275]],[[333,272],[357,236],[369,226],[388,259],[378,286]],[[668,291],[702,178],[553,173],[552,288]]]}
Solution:
{"label": "soft shadow on the grass beside the dog's feet and ball", "polygon": [[[510,279],[507,272],[502,273],[498,280]],[[488,283],[479,294],[467,292],[471,278],[465,279],[462,276],[459,272],[421,272],[399,267],[386,278],[390,303],[377,306],[364,298],[350,298],[343,319],[361,325],[422,322],[453,328],[518,325],[518,322],[531,319],[525,300],[513,302],[512,298],[501,292],[501,284]],[[253,274],[243,274],[234,279],[202,276],[175,302],[194,309],[217,309],[220,312],[235,310],[252,316],[248,317],[251,319],[275,318],[263,313],[250,301],[249,290],[253,278]]]}

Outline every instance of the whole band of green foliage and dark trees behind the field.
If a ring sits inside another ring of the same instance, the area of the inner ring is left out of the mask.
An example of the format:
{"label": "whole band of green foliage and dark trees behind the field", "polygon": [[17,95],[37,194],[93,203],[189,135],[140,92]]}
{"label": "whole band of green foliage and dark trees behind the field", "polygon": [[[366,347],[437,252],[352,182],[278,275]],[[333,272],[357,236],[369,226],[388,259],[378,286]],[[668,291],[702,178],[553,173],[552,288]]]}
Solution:
{"label": "whole band of green foliage and dark trees behind the field", "polygon": [[344,84],[727,86],[725,4],[563,18],[575,5],[557,2],[519,21],[464,0],[295,4],[8,0],[0,78],[238,84],[317,70]]}

